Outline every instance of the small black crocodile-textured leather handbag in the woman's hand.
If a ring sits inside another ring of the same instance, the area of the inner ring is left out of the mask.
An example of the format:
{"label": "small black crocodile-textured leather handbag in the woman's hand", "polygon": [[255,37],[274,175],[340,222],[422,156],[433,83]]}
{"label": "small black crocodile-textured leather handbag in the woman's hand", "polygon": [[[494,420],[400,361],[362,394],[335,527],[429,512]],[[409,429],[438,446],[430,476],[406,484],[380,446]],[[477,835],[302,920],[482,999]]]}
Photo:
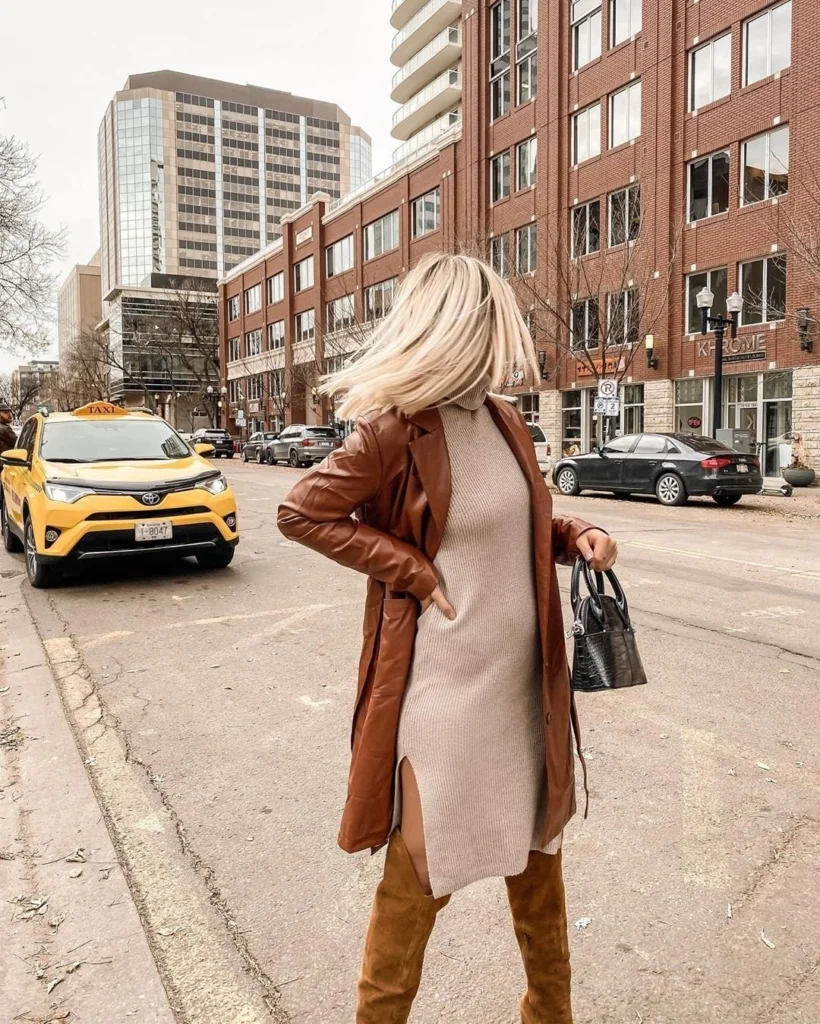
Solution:
{"label": "small black crocodile-textured leather handbag in the woman's hand", "polygon": [[[580,596],[581,577],[587,585],[586,597]],[[584,558],[575,559],[570,585],[573,623],[567,633],[575,638],[573,690],[614,690],[646,682],[627,595],[611,569],[606,579],[614,597],[604,593],[604,573],[593,573]]]}

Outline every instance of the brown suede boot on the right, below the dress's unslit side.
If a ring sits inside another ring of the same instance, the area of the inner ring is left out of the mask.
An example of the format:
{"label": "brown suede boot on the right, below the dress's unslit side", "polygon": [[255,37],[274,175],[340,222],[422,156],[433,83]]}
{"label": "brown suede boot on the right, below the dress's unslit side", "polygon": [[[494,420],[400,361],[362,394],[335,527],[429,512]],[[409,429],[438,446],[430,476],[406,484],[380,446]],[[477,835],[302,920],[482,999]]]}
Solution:
{"label": "brown suede boot on the right, below the dress's unslit side", "polygon": [[526,870],[505,881],[527,975],[521,1022],[572,1024],[561,851],[533,850]]}

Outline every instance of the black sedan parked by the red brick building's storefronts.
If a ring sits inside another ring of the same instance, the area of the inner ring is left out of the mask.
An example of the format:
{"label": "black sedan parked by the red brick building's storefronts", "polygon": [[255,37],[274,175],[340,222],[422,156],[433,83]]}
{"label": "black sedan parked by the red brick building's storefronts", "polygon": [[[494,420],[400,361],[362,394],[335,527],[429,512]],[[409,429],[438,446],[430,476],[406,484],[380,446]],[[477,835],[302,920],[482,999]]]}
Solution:
{"label": "black sedan parked by the red brick building's storefronts", "polygon": [[760,459],[734,452],[711,437],[689,434],[628,434],[589,455],[561,459],[553,480],[562,495],[609,490],[655,495],[661,505],[683,505],[708,495],[734,505],[763,489]]}

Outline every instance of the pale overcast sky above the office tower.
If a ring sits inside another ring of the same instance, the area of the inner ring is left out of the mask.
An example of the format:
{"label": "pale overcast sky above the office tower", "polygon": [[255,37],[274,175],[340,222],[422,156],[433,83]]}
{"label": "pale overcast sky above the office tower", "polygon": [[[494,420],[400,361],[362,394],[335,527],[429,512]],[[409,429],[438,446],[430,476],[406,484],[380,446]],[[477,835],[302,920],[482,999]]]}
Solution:
{"label": "pale overcast sky above the office tower", "polygon": [[[60,282],[99,245],[97,128],[129,75],[172,69],[338,103],[390,163],[390,0],[3,3],[0,134],[40,157]],[[20,361],[0,354],[0,370]]]}

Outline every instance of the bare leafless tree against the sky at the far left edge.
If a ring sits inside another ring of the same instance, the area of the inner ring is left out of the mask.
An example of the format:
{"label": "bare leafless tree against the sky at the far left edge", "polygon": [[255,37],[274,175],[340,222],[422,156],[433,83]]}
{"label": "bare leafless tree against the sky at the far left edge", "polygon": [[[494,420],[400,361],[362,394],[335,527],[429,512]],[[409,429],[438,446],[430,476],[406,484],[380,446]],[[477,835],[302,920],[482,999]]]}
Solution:
{"label": "bare leafless tree against the sky at the far left edge", "polygon": [[40,220],[45,199],[37,160],[19,139],[0,136],[0,348],[42,351],[54,321],[55,260],[61,232]]}

